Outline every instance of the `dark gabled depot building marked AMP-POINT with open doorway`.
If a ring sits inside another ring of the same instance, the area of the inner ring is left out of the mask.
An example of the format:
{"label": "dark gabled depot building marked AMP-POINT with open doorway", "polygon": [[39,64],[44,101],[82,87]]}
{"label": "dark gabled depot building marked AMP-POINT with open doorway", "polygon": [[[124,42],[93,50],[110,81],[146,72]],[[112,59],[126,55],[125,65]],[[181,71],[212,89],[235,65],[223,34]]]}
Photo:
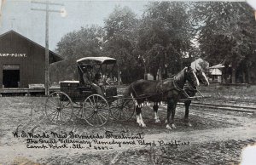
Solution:
{"label": "dark gabled depot building marked AMP-POINT with open doorway", "polygon": [[[60,55],[49,50],[49,64],[60,60]],[[15,31],[0,35],[0,88],[44,84],[44,65],[44,47]]]}

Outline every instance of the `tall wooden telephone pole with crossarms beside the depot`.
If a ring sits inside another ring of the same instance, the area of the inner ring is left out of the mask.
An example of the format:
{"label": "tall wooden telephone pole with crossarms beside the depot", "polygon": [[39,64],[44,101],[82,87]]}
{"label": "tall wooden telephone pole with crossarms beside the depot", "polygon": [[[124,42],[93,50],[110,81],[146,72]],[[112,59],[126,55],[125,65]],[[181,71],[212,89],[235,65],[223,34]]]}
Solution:
{"label": "tall wooden telephone pole with crossarms beside the depot", "polygon": [[49,13],[62,13],[61,10],[53,10],[49,9],[50,5],[59,5],[64,6],[61,3],[49,3],[49,0],[46,0],[44,2],[38,2],[38,1],[32,1],[31,3],[38,3],[38,4],[44,4],[45,9],[32,9],[35,11],[43,11],[45,12],[45,95],[49,95]]}

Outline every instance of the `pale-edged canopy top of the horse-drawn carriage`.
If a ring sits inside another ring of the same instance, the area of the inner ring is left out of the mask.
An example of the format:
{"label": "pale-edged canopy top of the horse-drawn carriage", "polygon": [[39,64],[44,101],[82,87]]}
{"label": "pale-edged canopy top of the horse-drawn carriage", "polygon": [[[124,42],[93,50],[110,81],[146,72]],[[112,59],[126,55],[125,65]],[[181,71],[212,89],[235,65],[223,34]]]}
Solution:
{"label": "pale-edged canopy top of the horse-drawn carriage", "polygon": [[116,60],[110,57],[84,57],[82,59],[77,60],[79,65],[86,65],[86,64],[115,64]]}

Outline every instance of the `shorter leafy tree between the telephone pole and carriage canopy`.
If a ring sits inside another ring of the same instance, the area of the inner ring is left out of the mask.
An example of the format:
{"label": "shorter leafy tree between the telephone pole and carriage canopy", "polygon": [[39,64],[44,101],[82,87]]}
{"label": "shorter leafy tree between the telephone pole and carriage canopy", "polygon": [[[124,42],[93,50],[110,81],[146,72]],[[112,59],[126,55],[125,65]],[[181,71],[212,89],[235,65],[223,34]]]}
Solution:
{"label": "shorter leafy tree between the telephone pole and carriage canopy", "polygon": [[104,31],[99,26],[81,27],[79,31],[67,33],[57,43],[56,52],[65,60],[50,66],[52,82],[78,80],[77,63],[83,57],[102,56]]}

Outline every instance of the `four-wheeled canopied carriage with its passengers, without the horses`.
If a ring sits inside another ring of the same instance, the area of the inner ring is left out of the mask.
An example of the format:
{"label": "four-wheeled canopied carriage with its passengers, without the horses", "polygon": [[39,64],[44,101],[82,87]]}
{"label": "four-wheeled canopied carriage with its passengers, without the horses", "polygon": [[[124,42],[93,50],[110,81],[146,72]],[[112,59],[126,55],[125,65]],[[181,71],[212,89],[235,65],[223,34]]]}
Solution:
{"label": "four-wheeled canopied carriage with its passengers, without the horses", "polygon": [[49,94],[45,115],[55,124],[65,124],[74,117],[91,126],[102,126],[109,117],[129,120],[135,111],[133,100],[118,95],[108,83],[116,60],[109,57],[85,57],[77,60],[79,81],[63,81],[61,91]]}

